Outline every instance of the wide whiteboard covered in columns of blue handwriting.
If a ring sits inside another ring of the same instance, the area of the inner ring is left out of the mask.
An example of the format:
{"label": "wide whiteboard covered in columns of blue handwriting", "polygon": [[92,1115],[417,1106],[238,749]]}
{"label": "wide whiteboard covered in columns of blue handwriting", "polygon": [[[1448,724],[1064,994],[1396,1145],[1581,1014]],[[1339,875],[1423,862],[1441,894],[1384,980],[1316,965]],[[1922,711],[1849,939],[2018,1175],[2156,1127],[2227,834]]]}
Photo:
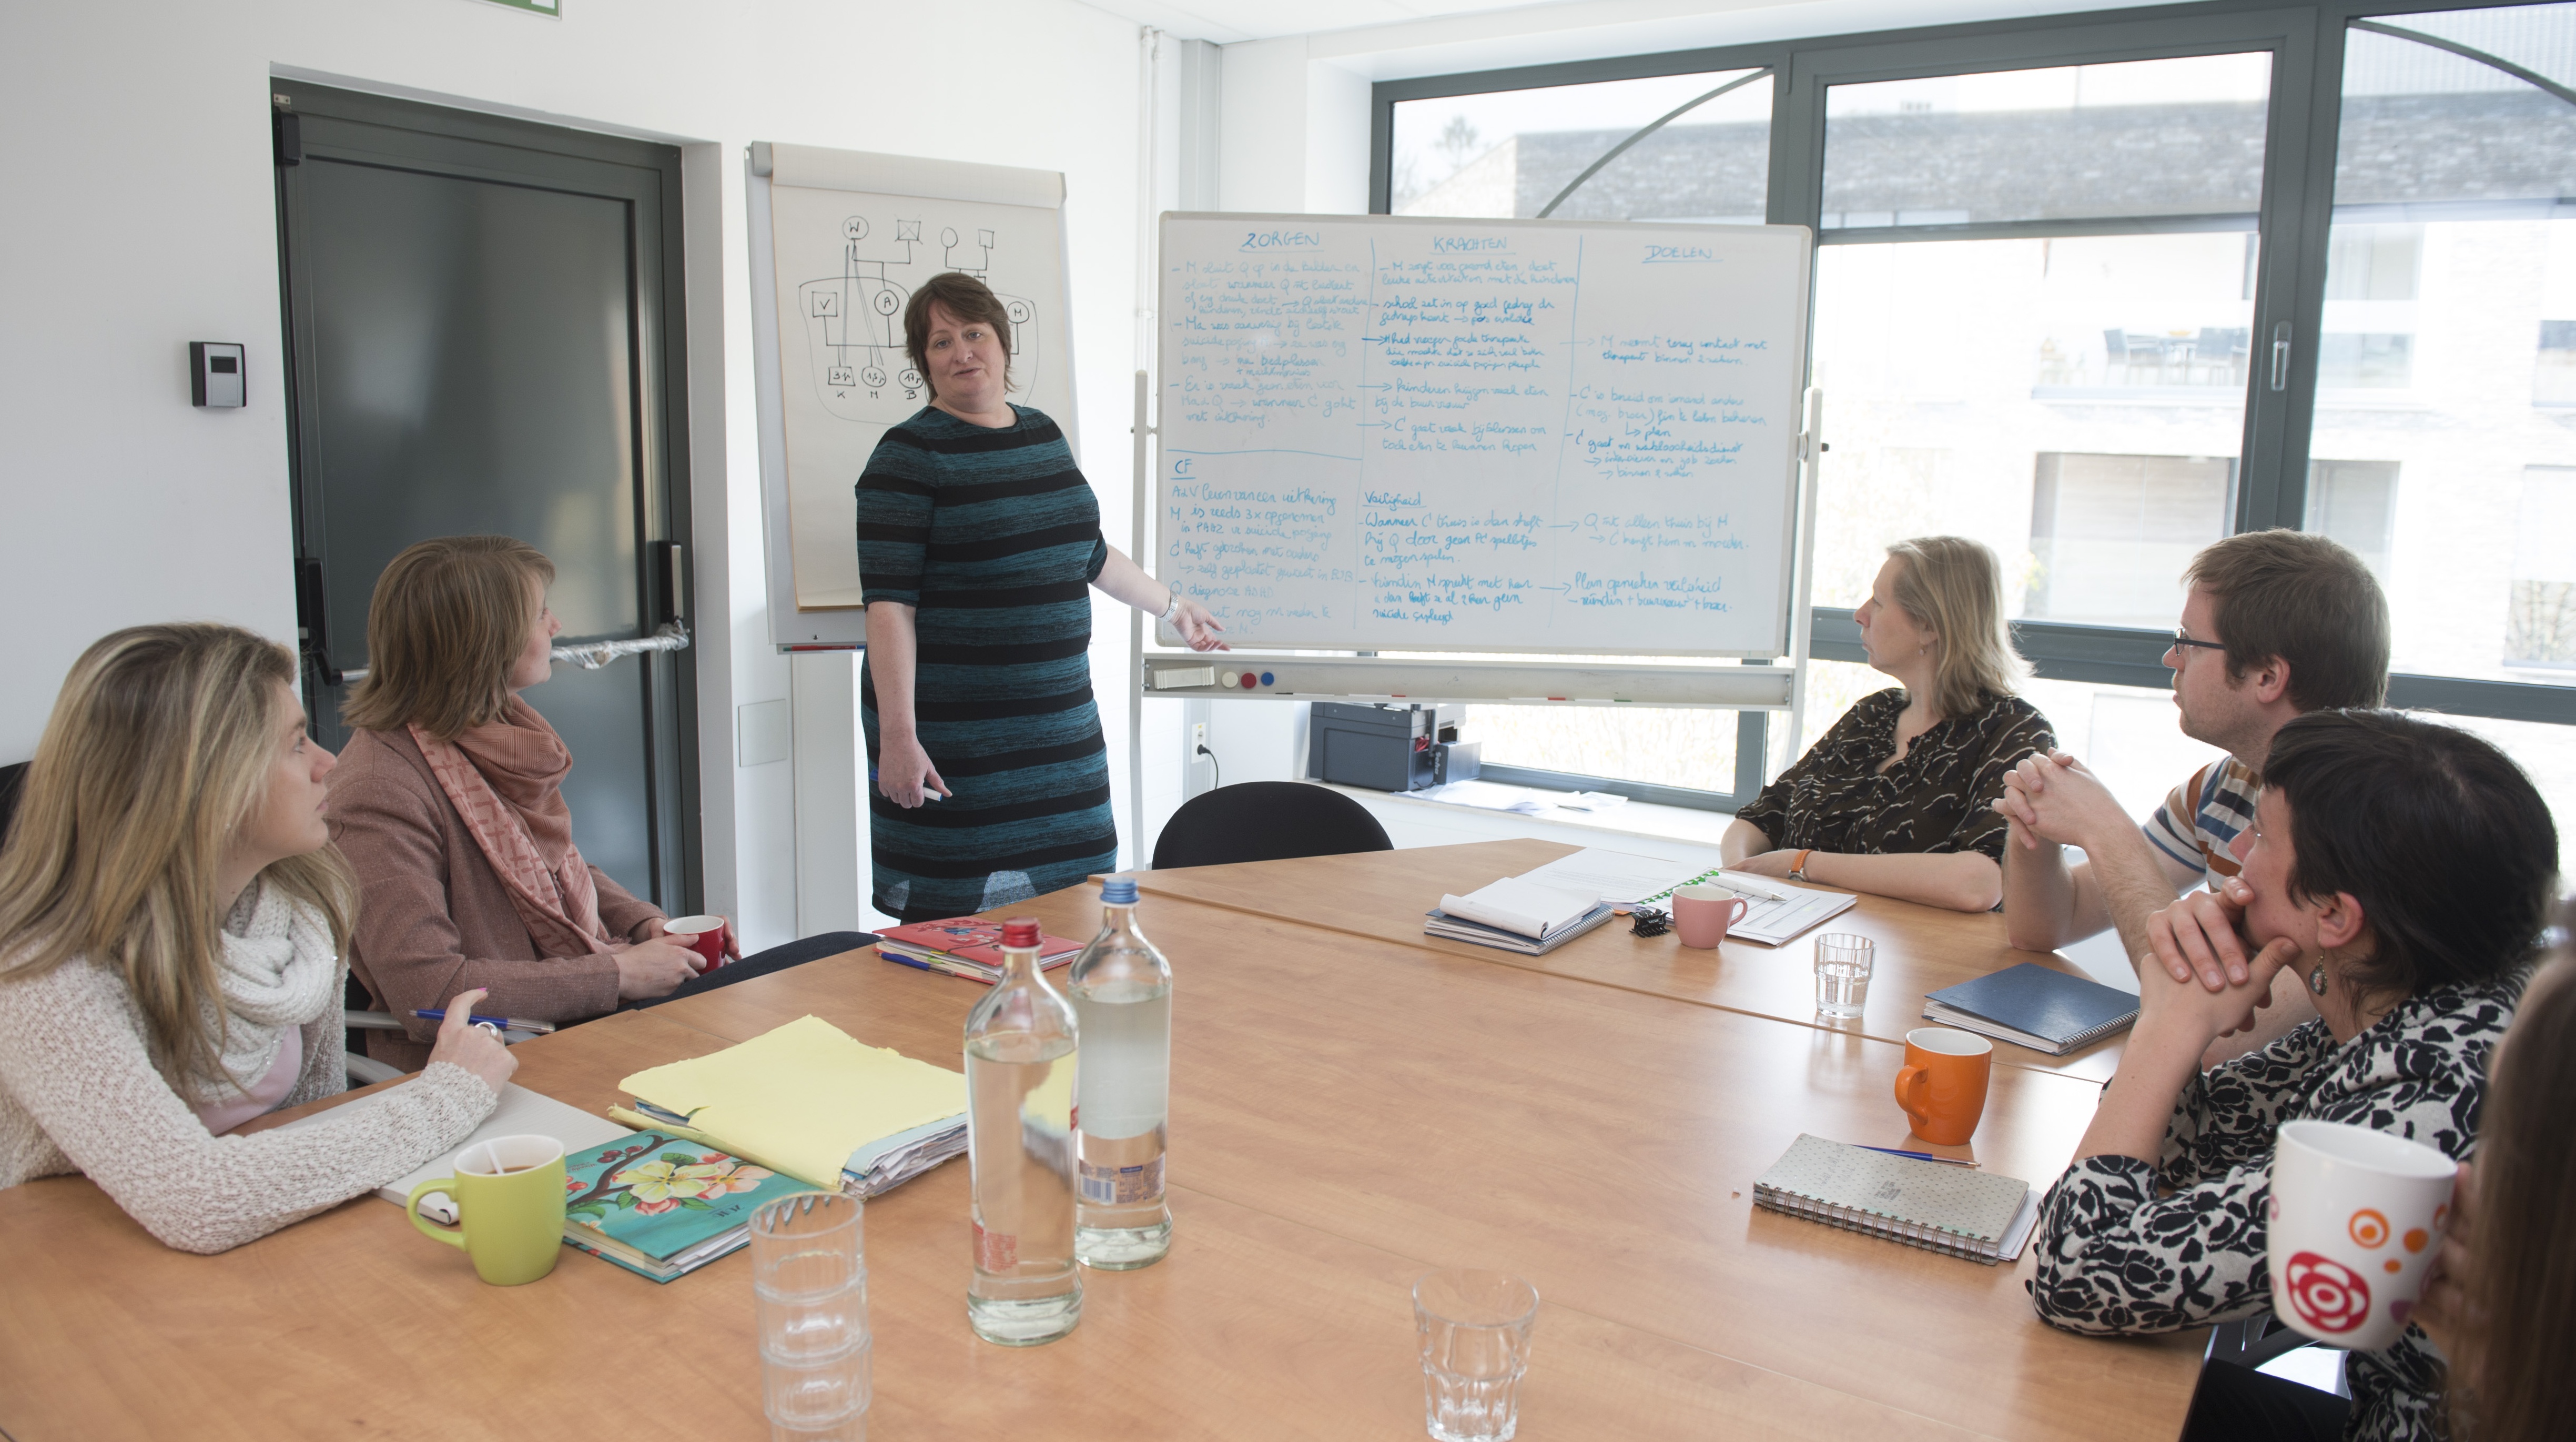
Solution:
{"label": "wide whiteboard covered in columns of blue handwriting", "polygon": [[1811,252],[1164,214],[1154,569],[1236,646],[1783,657]]}

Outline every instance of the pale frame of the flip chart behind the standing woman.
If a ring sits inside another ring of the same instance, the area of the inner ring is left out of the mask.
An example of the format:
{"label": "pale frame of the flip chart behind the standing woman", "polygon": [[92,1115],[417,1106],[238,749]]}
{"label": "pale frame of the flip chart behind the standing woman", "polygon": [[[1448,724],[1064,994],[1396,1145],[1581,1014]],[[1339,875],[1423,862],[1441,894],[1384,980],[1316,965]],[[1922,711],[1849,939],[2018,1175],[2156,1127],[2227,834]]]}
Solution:
{"label": "pale frame of the flip chart behind the standing woman", "polygon": [[[781,651],[868,649],[866,605],[796,605],[796,536],[788,512],[788,422],[783,355],[778,353],[778,234],[770,209],[778,152],[796,157],[791,183],[814,191],[920,196],[925,201],[979,201],[1056,211],[1056,270],[1064,283],[1064,412],[1054,417],[1074,458],[1082,458],[1082,371],[1074,366],[1074,258],[1064,234],[1064,175],[1005,165],[961,165],[855,149],[811,149],[752,142],[742,149],[742,188],[750,209],[744,242],[752,263],[752,404],[760,433],[760,551],[768,569],[770,644]],[[835,178],[817,175],[837,170]],[[858,476],[850,476],[858,484]],[[858,538],[853,536],[855,546]]]}

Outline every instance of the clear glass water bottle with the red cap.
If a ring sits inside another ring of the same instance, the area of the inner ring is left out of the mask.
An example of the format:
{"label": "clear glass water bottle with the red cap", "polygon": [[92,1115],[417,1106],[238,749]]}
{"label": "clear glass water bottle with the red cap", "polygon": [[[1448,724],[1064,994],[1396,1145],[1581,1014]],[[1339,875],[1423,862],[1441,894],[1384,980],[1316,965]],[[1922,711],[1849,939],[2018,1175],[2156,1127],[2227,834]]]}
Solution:
{"label": "clear glass water bottle with the red cap", "polygon": [[1074,1009],[1038,976],[1038,922],[1002,922],[1002,981],[966,1017],[966,1154],[984,1342],[1036,1347],[1082,1321],[1074,1267]]}

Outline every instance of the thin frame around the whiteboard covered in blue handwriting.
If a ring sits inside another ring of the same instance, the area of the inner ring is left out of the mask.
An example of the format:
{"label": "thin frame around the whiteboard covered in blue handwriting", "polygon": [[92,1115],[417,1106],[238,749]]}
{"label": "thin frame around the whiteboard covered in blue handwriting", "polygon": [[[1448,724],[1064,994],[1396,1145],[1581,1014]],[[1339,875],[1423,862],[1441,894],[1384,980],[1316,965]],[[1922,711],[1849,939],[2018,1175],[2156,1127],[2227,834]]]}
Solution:
{"label": "thin frame around the whiteboard covered in blue handwriting", "polygon": [[[1151,386],[1154,389],[1154,409],[1151,409],[1151,415],[1154,415],[1157,425],[1154,425],[1151,435],[1154,435],[1157,445],[1154,445],[1151,497],[1149,497],[1151,525],[1157,530],[1157,543],[1151,548],[1154,551],[1154,569],[1151,569],[1154,579],[1164,579],[1162,577],[1159,528],[1162,528],[1162,518],[1167,512],[1167,500],[1164,500],[1164,482],[1167,482],[1167,476],[1162,474],[1162,464],[1159,461],[1162,461],[1162,445],[1170,438],[1167,438],[1167,425],[1164,425],[1167,422],[1167,409],[1162,404],[1162,386],[1164,386],[1164,379],[1172,376],[1172,371],[1175,371],[1175,355],[1172,355],[1175,330],[1167,324],[1167,319],[1172,314],[1177,314],[1177,312],[1175,312],[1175,306],[1164,304],[1167,296],[1162,294],[1162,286],[1170,278],[1170,268],[1164,265],[1164,255],[1170,252],[1170,247],[1164,242],[1170,237],[1172,221],[1224,221],[1224,224],[1247,224],[1247,227],[1262,227],[1262,224],[1296,227],[1296,224],[1316,224],[1316,221],[1363,221],[1363,224],[1370,224],[1370,227],[1386,224],[1386,227],[1448,227],[1448,229],[1455,229],[1461,224],[1473,224],[1473,227],[1499,227],[1499,229],[1558,229],[1558,232],[1564,232],[1564,229],[1605,232],[1605,229],[1620,229],[1620,227],[1628,224],[1628,221],[1553,221],[1553,219],[1551,221],[1540,221],[1540,219],[1486,219],[1486,216],[1376,216],[1376,214],[1370,214],[1370,216],[1327,216],[1327,214],[1285,214],[1285,211],[1162,211],[1162,216],[1157,219],[1157,227],[1154,227],[1154,252],[1157,252],[1157,263],[1154,263],[1154,276],[1157,276],[1154,312],[1157,312],[1157,327],[1154,327],[1154,386]],[[1798,422],[1795,422],[1798,438],[1788,448],[1788,474],[1780,476],[1780,489],[1783,489],[1783,497],[1788,500],[1788,505],[1783,507],[1783,518],[1780,518],[1783,525],[1780,525],[1780,536],[1777,536],[1783,566],[1780,566],[1780,592],[1775,597],[1775,605],[1777,605],[1777,631],[1772,633],[1775,636],[1775,646],[1770,646],[1770,649],[1731,649],[1731,651],[1728,649],[1654,649],[1654,646],[1633,646],[1631,649],[1631,646],[1620,646],[1620,649],[1615,649],[1615,654],[1628,654],[1628,657],[1708,657],[1708,659],[1721,659],[1723,657],[1723,659],[1790,662],[1790,657],[1803,649],[1798,633],[1806,626],[1806,618],[1801,615],[1803,608],[1793,605],[1793,600],[1798,595],[1798,582],[1803,579],[1803,569],[1806,569],[1803,566],[1806,556],[1803,556],[1803,546],[1801,546],[1801,510],[1803,510],[1806,487],[1808,487],[1808,466],[1806,466],[1806,453],[1803,453],[1803,448],[1806,448],[1803,433],[1806,433],[1806,384],[1808,384],[1806,366],[1808,366],[1808,340],[1811,340],[1808,332],[1814,330],[1814,309],[1816,309],[1816,291],[1814,291],[1814,276],[1816,276],[1816,232],[1808,229],[1808,227],[1803,227],[1803,224],[1721,227],[1721,224],[1677,224],[1677,221],[1651,221],[1651,224],[1641,224],[1636,229],[1659,229],[1659,232],[1662,229],[1677,229],[1677,232],[1713,232],[1713,234],[1795,232],[1801,237],[1803,245],[1798,247],[1798,278],[1795,278],[1798,324],[1793,327],[1793,350],[1790,350],[1790,363],[1788,363],[1788,373],[1793,376],[1795,389],[1788,397],[1783,397],[1788,402],[1785,415],[1798,417]],[[1139,543],[1144,543],[1144,536],[1139,536]],[[1164,582],[1164,585],[1172,585],[1172,582]],[[1306,651],[1306,649],[1332,649],[1332,651],[1360,649],[1360,651],[1368,651],[1368,649],[1391,649],[1391,646],[1422,646],[1422,649],[1443,649],[1443,651],[1471,651],[1471,654],[1479,654],[1479,657],[1484,657],[1484,654],[1492,654],[1492,657],[1556,654],[1556,657],[1561,657],[1561,654],[1569,654],[1569,651],[1587,651],[1589,649],[1589,646],[1569,644],[1569,641],[1548,641],[1548,644],[1535,644],[1535,646],[1435,646],[1427,639],[1388,641],[1388,639],[1363,639],[1363,636],[1342,636],[1342,639],[1275,639],[1275,641],[1273,639],[1262,639],[1260,646],[1273,649],[1273,651]],[[1610,654],[1613,649],[1610,646],[1600,646],[1597,651],[1600,654]],[[1437,667],[1440,662],[1430,662],[1430,664]],[[1141,670],[1144,667],[1139,667],[1139,685],[1146,685],[1146,677],[1141,675]],[[1664,670],[1664,667],[1638,667],[1638,670],[1651,672],[1651,670]],[[1185,695],[1185,693],[1180,693],[1180,690],[1151,690],[1149,695]],[[1195,690],[1193,688],[1188,695],[1221,695],[1221,693],[1216,693],[1216,690]],[[1236,690],[1236,695],[1242,695],[1242,693]],[[1468,700],[1468,698],[1458,698],[1458,700]],[[1479,698],[1479,700],[1484,700],[1484,698]],[[1783,700],[1777,700],[1772,706],[1788,708],[1788,698],[1783,698]],[[1765,708],[1772,708],[1772,706],[1765,706]]]}

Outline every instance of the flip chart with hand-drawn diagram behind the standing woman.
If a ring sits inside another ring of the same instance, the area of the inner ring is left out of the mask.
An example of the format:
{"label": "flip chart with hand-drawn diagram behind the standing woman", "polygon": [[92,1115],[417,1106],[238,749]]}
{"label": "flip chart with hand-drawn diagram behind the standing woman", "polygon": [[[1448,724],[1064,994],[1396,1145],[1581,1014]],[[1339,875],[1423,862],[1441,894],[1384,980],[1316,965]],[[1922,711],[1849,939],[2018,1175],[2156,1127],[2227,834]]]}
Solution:
{"label": "flip chart with hand-drawn diagram behind the standing woman", "polygon": [[860,644],[858,474],[930,404],[904,304],[981,278],[1010,314],[1018,404],[1074,433],[1064,178],[1054,170],[755,144],[752,317],[775,644]]}

